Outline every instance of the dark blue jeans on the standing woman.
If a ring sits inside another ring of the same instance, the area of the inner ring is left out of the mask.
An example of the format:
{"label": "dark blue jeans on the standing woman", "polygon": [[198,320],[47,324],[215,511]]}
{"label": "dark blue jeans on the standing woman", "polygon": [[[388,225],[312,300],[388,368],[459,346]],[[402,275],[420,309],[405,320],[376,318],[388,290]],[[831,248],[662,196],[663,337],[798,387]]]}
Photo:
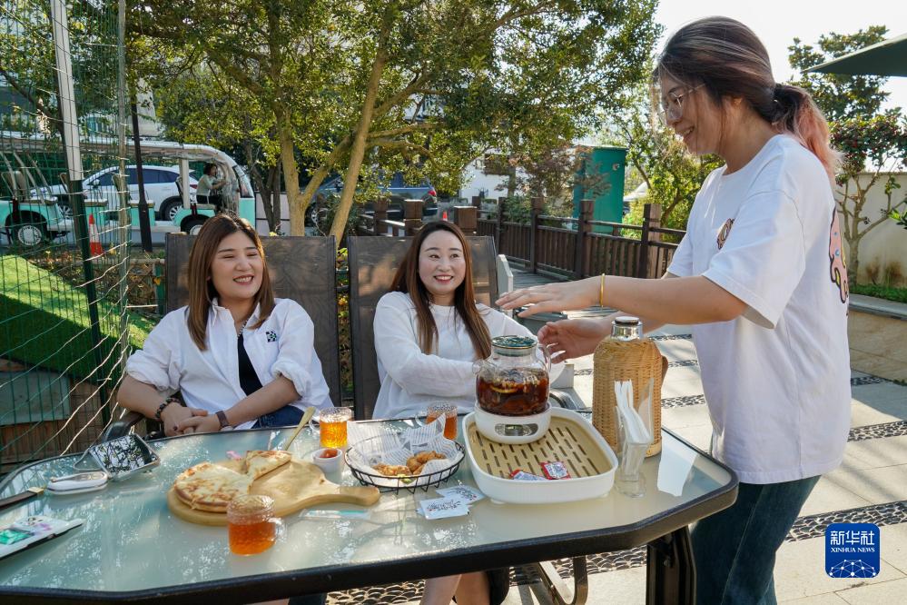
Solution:
{"label": "dark blue jeans on the standing woman", "polygon": [[[734,505],[690,534],[701,605],[774,605],[774,554],[819,477],[740,483]],[[821,571],[821,570],[820,570]]]}

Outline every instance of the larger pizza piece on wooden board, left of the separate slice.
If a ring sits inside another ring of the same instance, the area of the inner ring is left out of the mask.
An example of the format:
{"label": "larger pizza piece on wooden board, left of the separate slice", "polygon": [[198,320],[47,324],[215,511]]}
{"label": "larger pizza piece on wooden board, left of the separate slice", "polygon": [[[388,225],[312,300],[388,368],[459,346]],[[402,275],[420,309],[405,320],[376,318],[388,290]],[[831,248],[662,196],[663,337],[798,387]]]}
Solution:
{"label": "larger pizza piece on wooden board, left of the separate slice", "polygon": [[226,513],[233,498],[249,493],[251,482],[249,475],[202,462],[182,471],[173,481],[173,491],[193,509]]}

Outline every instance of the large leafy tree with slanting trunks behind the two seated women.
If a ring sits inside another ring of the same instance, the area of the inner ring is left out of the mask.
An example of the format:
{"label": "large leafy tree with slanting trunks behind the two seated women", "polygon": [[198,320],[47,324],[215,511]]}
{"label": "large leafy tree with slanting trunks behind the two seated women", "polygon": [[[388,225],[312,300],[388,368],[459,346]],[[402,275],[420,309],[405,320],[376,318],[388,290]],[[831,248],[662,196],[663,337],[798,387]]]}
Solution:
{"label": "large leafy tree with slanting trunks behind the two seated women", "polygon": [[[305,8],[143,0],[133,31],[196,50],[274,115],[291,233],[344,174],[340,236],[361,176],[399,168],[454,189],[488,148],[571,140],[643,75],[654,0],[320,0]],[[184,51],[184,55],[189,55]],[[203,58],[202,58],[203,56]],[[295,151],[311,158],[298,191]]]}

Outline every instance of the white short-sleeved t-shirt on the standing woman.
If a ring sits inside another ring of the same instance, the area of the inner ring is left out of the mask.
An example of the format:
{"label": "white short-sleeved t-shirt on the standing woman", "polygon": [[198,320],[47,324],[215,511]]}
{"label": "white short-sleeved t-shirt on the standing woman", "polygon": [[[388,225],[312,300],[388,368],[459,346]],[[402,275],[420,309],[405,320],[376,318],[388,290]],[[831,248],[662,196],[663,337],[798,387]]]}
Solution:
{"label": "white short-sleeved t-shirt on the standing woman", "polygon": [[713,451],[748,483],[831,471],[850,427],[847,272],[828,176],[779,134],[696,195],[669,273],[704,275],[746,303],[693,326]]}

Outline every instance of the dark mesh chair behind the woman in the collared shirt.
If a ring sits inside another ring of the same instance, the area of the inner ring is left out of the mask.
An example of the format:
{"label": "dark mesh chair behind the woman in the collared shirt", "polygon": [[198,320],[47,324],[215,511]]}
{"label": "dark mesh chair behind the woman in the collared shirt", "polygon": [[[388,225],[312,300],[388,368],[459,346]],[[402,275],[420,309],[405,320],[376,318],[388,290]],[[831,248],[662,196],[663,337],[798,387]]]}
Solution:
{"label": "dark mesh chair behind the woman in the collared shirt", "polygon": [[[187,266],[194,241],[194,235],[167,234],[167,312],[189,302]],[[340,356],[337,350],[334,238],[265,237],[261,243],[268,259],[274,295],[299,302],[315,324],[315,352],[321,362],[324,380],[328,382],[330,399],[339,406]],[[104,441],[122,436],[142,420],[143,415],[138,412],[124,412],[123,417],[107,430]]]}

